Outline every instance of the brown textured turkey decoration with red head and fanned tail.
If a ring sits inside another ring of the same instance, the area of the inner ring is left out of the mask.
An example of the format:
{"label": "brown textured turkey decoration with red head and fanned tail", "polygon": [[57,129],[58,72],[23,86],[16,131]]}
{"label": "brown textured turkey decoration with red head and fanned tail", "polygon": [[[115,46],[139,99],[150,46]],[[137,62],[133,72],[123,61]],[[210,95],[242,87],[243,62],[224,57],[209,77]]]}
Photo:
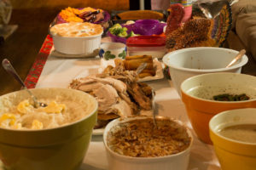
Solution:
{"label": "brown textured turkey decoration with red head and fanned tail", "polygon": [[222,47],[232,24],[230,3],[224,3],[214,19],[206,19],[197,4],[193,4],[192,19],[181,23],[182,5],[170,6],[166,27],[166,48],[169,51],[192,47]]}

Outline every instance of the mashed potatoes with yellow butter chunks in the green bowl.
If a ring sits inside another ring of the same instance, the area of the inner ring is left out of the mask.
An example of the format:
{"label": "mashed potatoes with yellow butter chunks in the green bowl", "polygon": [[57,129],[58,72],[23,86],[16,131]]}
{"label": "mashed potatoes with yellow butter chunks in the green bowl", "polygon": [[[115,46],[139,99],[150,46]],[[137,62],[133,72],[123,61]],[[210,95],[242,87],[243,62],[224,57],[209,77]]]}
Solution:
{"label": "mashed potatoes with yellow butter chunks in the green bowl", "polygon": [[[40,99],[46,107],[35,108],[28,99],[11,105],[0,113],[0,127],[10,129],[44,129],[76,122],[90,114],[90,108],[71,100]],[[90,102],[89,102],[90,103]]]}

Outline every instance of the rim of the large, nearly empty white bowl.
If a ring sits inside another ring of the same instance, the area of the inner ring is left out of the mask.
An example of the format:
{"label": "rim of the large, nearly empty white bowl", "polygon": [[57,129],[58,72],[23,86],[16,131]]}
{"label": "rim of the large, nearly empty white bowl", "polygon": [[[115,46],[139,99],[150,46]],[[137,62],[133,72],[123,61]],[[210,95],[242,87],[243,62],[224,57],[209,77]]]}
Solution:
{"label": "rim of the large, nearly empty white bowl", "polygon": [[[230,48],[216,48],[216,47],[198,47],[198,48],[183,48],[183,49],[178,49],[176,51],[172,51],[170,53],[165,54],[165,56],[163,57],[163,62],[168,65],[169,67],[176,69],[176,70],[180,70],[180,71],[189,71],[189,72],[220,72],[220,71],[230,71],[233,69],[237,69],[243,65],[247,64],[248,58],[247,55],[244,54],[241,58],[241,62],[237,63],[236,65],[232,65],[229,68],[218,68],[218,69],[190,69],[190,68],[185,68],[185,67],[180,67],[177,65],[172,65],[170,64],[170,62],[168,61],[169,56],[175,56],[176,54],[181,54],[183,52],[188,52],[188,51],[197,51],[197,50],[207,50],[207,49],[216,49],[216,50],[220,50],[220,51],[227,51],[227,52],[232,52],[232,53],[237,53],[238,51],[230,49]],[[234,55],[235,58],[235,55]]]}

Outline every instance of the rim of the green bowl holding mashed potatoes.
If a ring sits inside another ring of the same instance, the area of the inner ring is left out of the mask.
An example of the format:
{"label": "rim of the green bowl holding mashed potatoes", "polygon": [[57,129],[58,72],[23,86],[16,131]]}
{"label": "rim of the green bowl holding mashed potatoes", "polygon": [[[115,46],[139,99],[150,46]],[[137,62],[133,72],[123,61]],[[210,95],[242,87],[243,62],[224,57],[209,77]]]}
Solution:
{"label": "rim of the green bowl holding mashed potatoes", "polygon": [[[79,91],[79,90],[76,90],[76,89],[72,89],[72,88],[32,88],[30,90],[38,90],[38,89],[53,89],[53,90],[61,89],[61,90],[73,90],[73,91],[76,91],[76,93],[82,92],[82,91]],[[23,89],[23,90],[25,90],[25,89]],[[11,92],[9,94],[3,94],[3,95],[0,96],[0,98],[2,98],[4,96],[7,96],[7,95],[10,95],[10,94],[18,93],[20,91],[22,91],[22,90]],[[12,128],[3,128],[3,127],[0,127],[0,129],[1,130],[5,130],[5,131],[10,131],[10,132],[27,132],[27,133],[31,132],[31,133],[34,133],[34,132],[51,131],[51,130],[55,130],[55,129],[61,129],[61,128],[65,128],[65,127],[70,127],[70,126],[73,126],[74,124],[78,124],[79,122],[83,122],[85,119],[89,118],[90,116],[93,116],[97,112],[97,110],[98,110],[98,102],[90,94],[87,94],[87,93],[84,93],[84,92],[82,92],[82,94],[88,95],[88,97],[90,99],[94,100],[96,105],[95,105],[94,110],[91,111],[90,114],[84,116],[83,118],[79,119],[76,122],[68,123],[67,125],[62,125],[60,127],[44,128],[44,129],[12,129]]]}

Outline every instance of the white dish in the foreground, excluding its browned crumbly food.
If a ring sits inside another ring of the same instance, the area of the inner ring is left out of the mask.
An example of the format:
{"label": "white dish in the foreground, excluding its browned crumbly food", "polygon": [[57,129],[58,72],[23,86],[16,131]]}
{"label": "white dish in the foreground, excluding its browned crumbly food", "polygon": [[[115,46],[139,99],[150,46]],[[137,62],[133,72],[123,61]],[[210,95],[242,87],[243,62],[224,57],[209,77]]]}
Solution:
{"label": "white dish in the foreground, excluding its browned crumbly food", "polygon": [[[150,116],[152,118],[152,116]],[[191,138],[189,147],[186,150],[183,150],[177,154],[170,156],[159,156],[159,157],[131,157],[131,156],[122,156],[114,152],[108,147],[107,137],[109,130],[118,125],[120,122],[129,122],[132,120],[146,119],[148,116],[135,116],[135,117],[126,117],[125,119],[115,119],[112,122],[109,122],[103,133],[103,142],[107,151],[108,157],[108,169],[109,170],[187,170],[189,165],[189,154],[190,148],[193,143],[193,138],[189,129],[187,128],[187,133]],[[163,118],[162,116],[157,116],[157,119]],[[166,118],[166,117],[164,117]],[[180,125],[183,125],[182,122],[174,120]]]}

